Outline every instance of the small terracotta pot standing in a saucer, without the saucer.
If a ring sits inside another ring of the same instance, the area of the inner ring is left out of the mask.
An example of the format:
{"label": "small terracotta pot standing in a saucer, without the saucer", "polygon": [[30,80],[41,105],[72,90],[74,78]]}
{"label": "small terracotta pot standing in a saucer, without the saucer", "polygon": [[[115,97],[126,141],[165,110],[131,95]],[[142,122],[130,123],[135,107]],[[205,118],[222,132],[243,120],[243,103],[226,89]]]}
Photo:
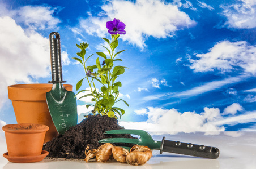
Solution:
{"label": "small terracotta pot standing in a saucer, without the saucer", "polygon": [[42,153],[45,132],[48,126],[42,124],[8,124],[5,131],[6,145],[10,157],[37,156]]}

